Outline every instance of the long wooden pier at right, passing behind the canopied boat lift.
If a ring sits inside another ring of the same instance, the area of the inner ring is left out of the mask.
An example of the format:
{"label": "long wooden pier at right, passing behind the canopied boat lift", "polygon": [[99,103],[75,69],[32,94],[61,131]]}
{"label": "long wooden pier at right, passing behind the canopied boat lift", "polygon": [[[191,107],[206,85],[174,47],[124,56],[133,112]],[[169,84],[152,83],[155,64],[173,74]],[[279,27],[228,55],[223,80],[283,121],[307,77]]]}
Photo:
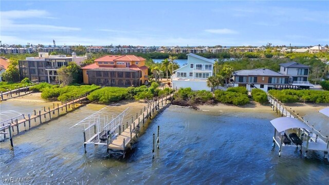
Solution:
{"label": "long wooden pier at right, passing behind the canopied boat lift", "polygon": [[[317,131],[313,125],[309,125],[308,121],[305,121],[303,117],[298,115],[295,110],[288,109],[282,102],[280,102],[278,99],[271,95],[267,95],[269,103],[272,105],[272,110],[276,111],[276,113],[280,117],[290,117],[290,118],[296,118],[302,122],[304,122],[306,125],[308,125],[310,128],[312,128],[310,133],[314,134],[307,134],[306,139],[306,147],[305,147],[305,157],[306,152],[308,150],[314,150],[314,151],[323,151],[325,154],[325,157],[328,157],[329,153],[329,137],[323,136],[320,131]],[[305,133],[306,134],[306,133]]]}

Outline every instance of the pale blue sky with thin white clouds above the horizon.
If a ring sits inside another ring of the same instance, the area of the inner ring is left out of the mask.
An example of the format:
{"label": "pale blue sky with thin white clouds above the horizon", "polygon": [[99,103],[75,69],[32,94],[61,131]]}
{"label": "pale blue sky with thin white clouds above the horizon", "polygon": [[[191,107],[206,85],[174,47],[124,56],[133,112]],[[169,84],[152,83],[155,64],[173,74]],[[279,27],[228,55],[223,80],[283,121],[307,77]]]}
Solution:
{"label": "pale blue sky with thin white clouds above the horizon", "polygon": [[1,1],[3,44],[329,44],[329,1]]}

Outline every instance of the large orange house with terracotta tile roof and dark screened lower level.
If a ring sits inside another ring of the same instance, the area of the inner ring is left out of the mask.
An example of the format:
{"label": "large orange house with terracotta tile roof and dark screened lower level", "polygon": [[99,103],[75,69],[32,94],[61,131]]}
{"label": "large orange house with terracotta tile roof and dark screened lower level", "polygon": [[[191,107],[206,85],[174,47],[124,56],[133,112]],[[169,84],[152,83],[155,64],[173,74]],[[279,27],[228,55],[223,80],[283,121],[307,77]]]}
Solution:
{"label": "large orange house with terracotta tile roof and dark screened lower level", "polygon": [[85,84],[136,87],[149,80],[145,59],[135,55],[105,55],[81,69]]}

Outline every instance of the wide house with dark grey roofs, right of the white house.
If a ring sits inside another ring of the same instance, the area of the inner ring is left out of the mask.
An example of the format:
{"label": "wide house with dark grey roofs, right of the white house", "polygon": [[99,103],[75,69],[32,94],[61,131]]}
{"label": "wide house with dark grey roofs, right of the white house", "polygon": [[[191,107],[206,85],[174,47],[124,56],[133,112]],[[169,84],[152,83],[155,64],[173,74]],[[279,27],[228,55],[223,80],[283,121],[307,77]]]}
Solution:
{"label": "wide house with dark grey roofs, right of the white house", "polygon": [[269,89],[307,88],[314,86],[308,82],[309,66],[297,62],[280,64],[280,72],[270,69],[250,69],[233,72],[234,86],[244,86],[248,91],[259,88]]}

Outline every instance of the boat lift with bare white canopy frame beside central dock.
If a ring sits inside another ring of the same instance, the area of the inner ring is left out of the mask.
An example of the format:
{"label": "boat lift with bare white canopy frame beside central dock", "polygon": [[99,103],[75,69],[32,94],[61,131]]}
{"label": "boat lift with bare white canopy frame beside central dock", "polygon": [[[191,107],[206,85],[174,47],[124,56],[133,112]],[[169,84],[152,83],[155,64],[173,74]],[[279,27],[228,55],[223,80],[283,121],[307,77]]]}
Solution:
{"label": "boat lift with bare white canopy frame beside central dock", "polygon": [[70,127],[84,125],[83,137],[85,152],[86,144],[108,145],[110,137],[110,140],[113,140],[118,136],[123,119],[130,112],[129,107],[124,109],[121,113],[117,112],[115,107],[119,105],[120,104],[108,105]]}

